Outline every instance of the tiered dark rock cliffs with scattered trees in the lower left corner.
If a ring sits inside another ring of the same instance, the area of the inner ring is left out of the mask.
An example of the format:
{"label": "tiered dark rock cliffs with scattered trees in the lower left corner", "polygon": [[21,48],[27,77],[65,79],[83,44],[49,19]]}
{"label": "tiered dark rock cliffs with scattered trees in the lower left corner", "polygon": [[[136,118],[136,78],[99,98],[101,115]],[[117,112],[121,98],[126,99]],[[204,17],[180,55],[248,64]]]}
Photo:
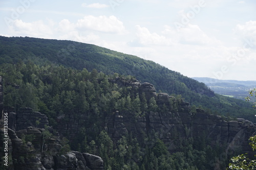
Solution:
{"label": "tiered dark rock cliffs with scattered trees in the lower left corner", "polygon": [[[4,128],[3,111],[3,79],[0,77],[0,135],[1,143],[8,141],[9,170],[100,170],[103,160],[92,154],[76,151],[61,153],[63,145],[58,133],[52,138],[44,138],[44,126],[48,125],[48,117],[31,108],[22,108],[15,112],[6,108],[8,127]],[[36,123],[36,120],[39,122]],[[54,134],[51,127],[49,132]],[[5,132],[8,135],[5,136]],[[3,137],[5,136],[5,137]],[[3,138],[2,138],[3,137]],[[3,141],[2,141],[3,140]],[[28,140],[28,141],[27,141]],[[47,141],[44,141],[47,140]],[[2,146],[2,145],[1,145]],[[2,150],[2,148],[1,148]],[[6,152],[7,153],[7,152]],[[1,153],[2,154],[2,153]],[[1,156],[2,157],[2,156]],[[1,160],[2,163],[3,160]],[[3,167],[3,166],[1,166]],[[4,167],[4,168],[6,168]]]}

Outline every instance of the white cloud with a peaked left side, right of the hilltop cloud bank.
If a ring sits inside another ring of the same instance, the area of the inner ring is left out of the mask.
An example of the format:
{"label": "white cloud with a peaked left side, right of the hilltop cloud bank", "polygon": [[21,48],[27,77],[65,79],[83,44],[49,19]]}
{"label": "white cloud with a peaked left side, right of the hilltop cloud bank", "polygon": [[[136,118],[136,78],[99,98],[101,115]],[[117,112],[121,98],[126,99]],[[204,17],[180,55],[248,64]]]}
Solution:
{"label": "white cloud with a peaked left side, right of the hilltop cloud bank", "polygon": [[136,26],[136,40],[130,44],[134,45],[171,45],[172,42],[170,39],[167,39],[164,36],[158,35],[157,33],[151,33],[147,28]]}

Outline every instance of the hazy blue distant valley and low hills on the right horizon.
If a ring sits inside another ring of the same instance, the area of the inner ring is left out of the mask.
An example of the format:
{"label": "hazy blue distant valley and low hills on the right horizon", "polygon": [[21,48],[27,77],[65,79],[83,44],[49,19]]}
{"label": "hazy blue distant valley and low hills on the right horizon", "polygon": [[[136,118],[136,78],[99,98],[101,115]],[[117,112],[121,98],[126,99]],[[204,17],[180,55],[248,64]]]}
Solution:
{"label": "hazy blue distant valley and low hills on the right horizon", "polygon": [[[249,90],[256,88],[256,81],[218,80],[206,77],[194,77],[192,79],[206,84],[217,94],[241,100],[245,100]],[[256,100],[252,98],[251,101],[255,102]]]}

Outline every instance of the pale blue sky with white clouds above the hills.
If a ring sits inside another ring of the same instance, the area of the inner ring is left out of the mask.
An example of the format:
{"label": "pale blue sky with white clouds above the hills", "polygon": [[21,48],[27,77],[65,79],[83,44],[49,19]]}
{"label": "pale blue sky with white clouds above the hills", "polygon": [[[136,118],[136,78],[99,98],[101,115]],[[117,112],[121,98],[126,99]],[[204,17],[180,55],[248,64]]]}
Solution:
{"label": "pale blue sky with white clouds above the hills", "polygon": [[0,0],[0,35],[95,44],[190,78],[256,80],[255,0]]}

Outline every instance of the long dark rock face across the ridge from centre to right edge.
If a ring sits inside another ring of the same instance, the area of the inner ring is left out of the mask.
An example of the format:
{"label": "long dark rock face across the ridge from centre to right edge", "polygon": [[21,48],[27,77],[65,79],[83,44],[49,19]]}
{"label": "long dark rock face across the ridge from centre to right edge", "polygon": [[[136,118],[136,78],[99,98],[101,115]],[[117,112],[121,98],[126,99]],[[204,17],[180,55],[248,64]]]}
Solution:
{"label": "long dark rock face across the ridge from centre to right edge", "polygon": [[[218,115],[206,114],[202,109],[190,113],[189,103],[177,100],[167,93],[156,94],[155,87],[150,83],[139,84],[139,92],[145,93],[147,101],[154,97],[158,106],[165,105],[171,108],[171,112],[148,112],[144,117],[137,118],[130,112],[116,113],[113,121],[107,124],[108,133],[114,140],[120,139],[125,132],[133,132],[139,140],[143,140],[145,132],[154,130],[173,153],[178,149],[175,142],[177,137],[186,139],[204,134],[212,145],[226,145],[225,154],[239,149],[251,153],[248,138],[256,131],[256,126],[248,120],[228,120]],[[208,95],[214,96],[214,93]],[[175,103],[179,105],[176,109],[173,107]]]}

